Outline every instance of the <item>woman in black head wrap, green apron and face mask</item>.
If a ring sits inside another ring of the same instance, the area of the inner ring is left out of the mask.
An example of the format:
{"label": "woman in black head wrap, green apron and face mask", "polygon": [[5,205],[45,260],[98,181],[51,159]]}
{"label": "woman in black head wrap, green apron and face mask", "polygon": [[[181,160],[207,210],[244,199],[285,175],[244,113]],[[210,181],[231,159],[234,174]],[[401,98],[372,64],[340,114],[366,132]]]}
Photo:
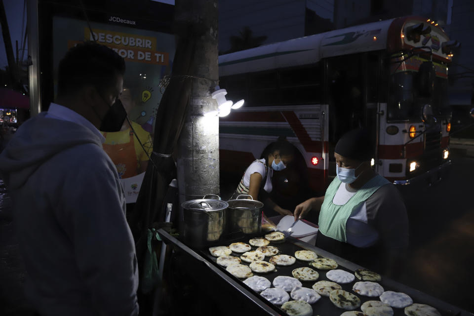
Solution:
{"label": "woman in black head wrap, green apron and face mask", "polygon": [[336,144],[337,177],[324,197],[295,208],[295,219],[319,211],[316,246],[364,267],[393,274],[408,246],[408,219],[400,194],[370,165],[373,142],[366,129]]}

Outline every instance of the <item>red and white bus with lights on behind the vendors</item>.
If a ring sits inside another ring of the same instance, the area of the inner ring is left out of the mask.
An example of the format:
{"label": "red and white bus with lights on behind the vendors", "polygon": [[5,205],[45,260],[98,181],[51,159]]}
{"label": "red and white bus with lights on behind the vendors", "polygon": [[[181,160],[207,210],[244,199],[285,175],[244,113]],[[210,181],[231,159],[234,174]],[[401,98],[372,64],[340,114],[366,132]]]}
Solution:
{"label": "red and white bus with lights on behind the vendors", "polygon": [[439,181],[451,164],[447,76],[457,45],[435,21],[409,16],[219,56],[220,86],[245,100],[220,118],[221,177],[236,181],[236,170],[284,137],[300,168],[277,172],[277,195],[305,185],[324,194],[336,142],[365,126],[380,175],[409,187]]}

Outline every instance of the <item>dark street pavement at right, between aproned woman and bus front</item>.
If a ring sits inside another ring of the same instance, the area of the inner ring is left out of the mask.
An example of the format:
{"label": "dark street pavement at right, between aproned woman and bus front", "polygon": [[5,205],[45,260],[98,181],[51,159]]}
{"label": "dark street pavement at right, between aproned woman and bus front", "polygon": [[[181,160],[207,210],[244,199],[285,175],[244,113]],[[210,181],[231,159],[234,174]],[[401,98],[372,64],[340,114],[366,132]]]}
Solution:
{"label": "dark street pavement at right, between aproned woman and bus front", "polygon": [[410,248],[400,281],[474,312],[474,158],[454,155],[443,181],[404,193]]}

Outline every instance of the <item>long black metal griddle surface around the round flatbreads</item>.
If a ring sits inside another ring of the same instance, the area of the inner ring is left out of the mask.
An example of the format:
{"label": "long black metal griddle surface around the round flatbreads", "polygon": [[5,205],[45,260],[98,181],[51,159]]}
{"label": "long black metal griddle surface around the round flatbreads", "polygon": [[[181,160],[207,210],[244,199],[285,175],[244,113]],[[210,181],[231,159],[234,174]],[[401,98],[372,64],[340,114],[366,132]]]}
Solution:
{"label": "long black metal griddle surface around the round flatbreads", "polygon": [[[252,289],[250,289],[249,287],[247,287],[242,282],[243,280],[238,279],[235,276],[232,276],[230,273],[228,273],[225,270],[225,267],[219,266],[216,263],[217,257],[212,256],[209,253],[208,249],[192,250],[192,249],[188,248],[187,246],[185,246],[184,244],[182,244],[176,238],[173,238],[173,237],[169,236],[166,232],[164,232],[162,230],[159,230],[158,233],[166,243],[172,242],[175,245],[178,245],[181,248],[183,248],[183,250],[194,252],[197,257],[201,257],[201,258],[205,259],[206,261],[212,263],[213,264],[212,270],[214,271],[214,273],[217,273],[221,277],[224,277],[226,280],[228,280],[229,285],[231,285],[233,287],[238,287],[239,292],[241,294],[247,296],[247,298],[249,298],[249,300],[252,301],[254,304],[260,305],[260,307],[262,308],[262,314],[261,315],[286,315],[286,313],[284,313],[278,306],[275,306],[275,305],[269,303],[262,296],[260,296],[259,293],[255,292]],[[229,245],[230,243],[236,242],[236,241],[242,241],[242,242],[248,243],[248,239],[249,238],[247,237],[247,238],[241,238],[240,240],[232,240],[232,241],[229,241],[229,243],[227,243],[227,244],[223,243],[222,245]],[[270,245],[277,247],[280,251],[280,254],[291,255],[293,257],[294,257],[295,251],[298,251],[298,250],[306,249],[306,250],[314,251],[314,252],[316,252],[318,257],[330,258],[330,259],[335,260],[339,265],[339,267],[337,269],[348,271],[350,273],[354,273],[354,271],[356,269],[363,269],[362,267],[360,267],[360,266],[358,266],[358,265],[356,265],[352,262],[349,262],[349,261],[347,261],[343,258],[337,257],[337,256],[335,256],[335,255],[333,255],[333,254],[331,254],[327,251],[324,251],[320,248],[317,248],[313,245],[310,245],[310,244],[308,244],[306,242],[303,242],[299,239],[296,239],[294,237],[288,237],[282,243],[271,242]],[[254,246],[251,246],[251,247],[252,247],[252,250],[257,249],[257,247],[254,247]],[[233,252],[231,255],[239,257],[241,254]],[[269,259],[270,259],[269,257],[266,257],[265,261],[269,261]],[[248,263],[245,263],[245,262],[242,262],[242,264],[245,264],[247,266],[249,265]],[[326,272],[329,271],[329,270],[326,271],[326,270],[316,269],[316,268],[310,266],[309,262],[301,261],[301,260],[298,260],[298,259],[296,259],[296,263],[291,265],[291,266],[276,266],[276,271],[275,272],[271,272],[271,273],[267,273],[267,274],[255,273],[254,272],[253,274],[256,275],[256,276],[264,276],[264,277],[268,278],[273,283],[273,280],[276,276],[292,276],[291,272],[294,269],[300,268],[300,267],[310,267],[310,268],[316,270],[319,273],[319,278],[316,281],[301,281],[301,283],[303,284],[304,287],[312,288],[312,285],[317,281],[329,280],[326,277]],[[343,290],[346,290],[350,293],[356,294],[356,293],[353,292],[352,287],[353,287],[354,283],[357,282],[357,281],[360,281],[360,280],[355,278],[355,280],[351,283],[340,284],[340,285],[342,286]],[[405,286],[401,283],[398,283],[398,282],[396,282],[394,280],[391,280],[389,278],[386,278],[384,276],[382,276],[382,280],[378,283],[381,284],[386,291],[391,290],[391,291],[395,291],[395,292],[403,292],[403,293],[408,294],[413,299],[414,303],[427,304],[427,305],[433,306],[434,308],[436,308],[441,313],[442,316],[465,316],[465,315],[470,316],[470,315],[472,315],[469,312],[463,311],[463,310],[461,310],[461,309],[459,309],[455,306],[447,304],[447,303],[445,303],[443,301],[440,301],[440,300],[438,300],[438,299],[436,299],[432,296],[429,296],[425,293],[414,290],[414,289],[412,289],[408,286]],[[272,285],[272,287],[273,287],[273,285]],[[362,295],[359,295],[359,294],[356,294],[356,296],[360,299],[360,304],[361,305],[366,301],[372,301],[372,300],[380,301],[380,299],[378,297],[366,297],[366,296],[362,296]],[[292,300],[292,299],[290,298],[290,300]],[[345,310],[339,309],[335,305],[333,305],[332,302],[329,300],[329,297],[326,297],[326,296],[321,296],[321,298],[315,304],[312,304],[312,307],[313,307],[313,315],[340,316],[343,312],[345,312]],[[271,310],[275,311],[276,313],[273,313]],[[401,308],[401,309],[393,308],[393,310],[394,310],[394,316],[404,316],[405,315],[403,308]],[[265,314],[263,314],[264,311],[265,311]],[[356,311],[360,311],[360,307],[357,308]]]}

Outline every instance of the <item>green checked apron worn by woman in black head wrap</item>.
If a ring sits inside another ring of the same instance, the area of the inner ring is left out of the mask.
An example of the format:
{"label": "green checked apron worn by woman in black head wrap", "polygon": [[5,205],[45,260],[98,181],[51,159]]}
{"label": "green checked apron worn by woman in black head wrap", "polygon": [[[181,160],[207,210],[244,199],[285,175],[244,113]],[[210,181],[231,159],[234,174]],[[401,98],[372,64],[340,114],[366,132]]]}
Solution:
{"label": "green checked apron worn by woman in black head wrap", "polygon": [[390,184],[390,182],[380,175],[370,179],[356,194],[344,205],[336,205],[332,202],[336,195],[341,181],[338,177],[332,180],[324,195],[324,202],[319,213],[319,231],[321,234],[333,239],[346,242],[346,222],[352,214],[352,210],[357,205],[365,202],[380,187]]}

